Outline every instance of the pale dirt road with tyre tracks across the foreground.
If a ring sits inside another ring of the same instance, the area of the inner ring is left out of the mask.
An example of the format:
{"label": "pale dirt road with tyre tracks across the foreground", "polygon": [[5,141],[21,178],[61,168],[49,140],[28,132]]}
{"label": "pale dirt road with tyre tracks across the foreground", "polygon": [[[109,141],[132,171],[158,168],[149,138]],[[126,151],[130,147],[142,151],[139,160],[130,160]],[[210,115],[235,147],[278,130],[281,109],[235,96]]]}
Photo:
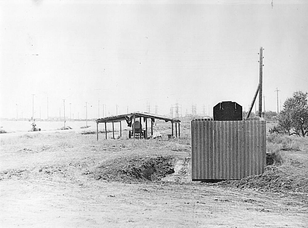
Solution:
{"label": "pale dirt road with tyre tracks across the foreground", "polygon": [[307,207],[255,191],[6,180],[2,227],[306,227]]}

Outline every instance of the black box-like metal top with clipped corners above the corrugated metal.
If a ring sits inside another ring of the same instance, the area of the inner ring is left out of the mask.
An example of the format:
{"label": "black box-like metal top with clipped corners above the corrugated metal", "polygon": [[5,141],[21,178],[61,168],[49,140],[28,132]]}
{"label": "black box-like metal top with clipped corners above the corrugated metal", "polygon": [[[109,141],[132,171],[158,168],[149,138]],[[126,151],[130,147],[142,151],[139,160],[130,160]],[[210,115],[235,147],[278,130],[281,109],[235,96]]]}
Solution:
{"label": "black box-like metal top with clipped corners above the corrugated metal", "polygon": [[213,108],[214,120],[243,120],[242,106],[232,101],[223,101]]}

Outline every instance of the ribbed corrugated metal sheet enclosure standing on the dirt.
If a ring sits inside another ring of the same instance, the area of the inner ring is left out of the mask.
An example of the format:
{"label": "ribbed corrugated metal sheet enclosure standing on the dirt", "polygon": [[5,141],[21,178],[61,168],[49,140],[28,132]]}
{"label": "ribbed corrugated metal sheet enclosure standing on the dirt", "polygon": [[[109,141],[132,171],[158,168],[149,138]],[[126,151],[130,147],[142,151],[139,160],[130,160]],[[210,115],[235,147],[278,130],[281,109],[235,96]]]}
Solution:
{"label": "ribbed corrugated metal sheet enclosure standing on the dirt", "polygon": [[241,179],[266,165],[264,120],[192,120],[192,179]]}

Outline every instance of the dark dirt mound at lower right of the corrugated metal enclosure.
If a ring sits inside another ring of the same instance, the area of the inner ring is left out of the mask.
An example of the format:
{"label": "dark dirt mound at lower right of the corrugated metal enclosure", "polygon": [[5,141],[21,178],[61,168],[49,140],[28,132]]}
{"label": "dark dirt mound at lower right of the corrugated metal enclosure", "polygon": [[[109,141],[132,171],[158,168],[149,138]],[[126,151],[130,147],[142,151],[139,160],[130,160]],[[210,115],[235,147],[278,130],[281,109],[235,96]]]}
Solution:
{"label": "dark dirt mound at lower right of the corrugated metal enclosure", "polygon": [[211,185],[269,192],[308,192],[308,172],[304,166],[298,161],[291,161],[287,165],[269,165],[261,175],[253,175],[241,180],[225,180]]}

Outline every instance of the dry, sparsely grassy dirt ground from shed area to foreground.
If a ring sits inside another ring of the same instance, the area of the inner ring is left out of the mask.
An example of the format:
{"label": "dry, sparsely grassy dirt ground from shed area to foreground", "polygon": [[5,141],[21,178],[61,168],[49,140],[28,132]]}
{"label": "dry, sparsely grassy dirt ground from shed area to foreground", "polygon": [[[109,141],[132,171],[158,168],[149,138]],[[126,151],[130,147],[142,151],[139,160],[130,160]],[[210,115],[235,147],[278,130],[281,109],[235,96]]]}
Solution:
{"label": "dry, sparsely grassy dirt ground from shed area to foreground", "polygon": [[263,176],[191,182],[189,123],[181,126],[174,140],[168,123],[158,140],[1,136],[1,227],[308,226],[307,148],[282,151],[287,162]]}

